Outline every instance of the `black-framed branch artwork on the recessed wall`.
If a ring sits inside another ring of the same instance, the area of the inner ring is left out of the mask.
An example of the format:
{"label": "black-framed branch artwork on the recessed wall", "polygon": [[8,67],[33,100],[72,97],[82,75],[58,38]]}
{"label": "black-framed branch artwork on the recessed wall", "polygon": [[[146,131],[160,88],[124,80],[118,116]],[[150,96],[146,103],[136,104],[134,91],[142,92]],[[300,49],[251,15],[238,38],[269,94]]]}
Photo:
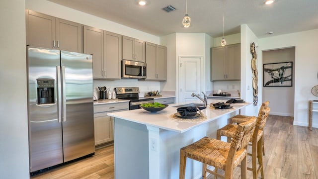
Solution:
{"label": "black-framed branch artwork on the recessed wall", "polygon": [[264,64],[263,67],[264,87],[293,86],[293,62]]}

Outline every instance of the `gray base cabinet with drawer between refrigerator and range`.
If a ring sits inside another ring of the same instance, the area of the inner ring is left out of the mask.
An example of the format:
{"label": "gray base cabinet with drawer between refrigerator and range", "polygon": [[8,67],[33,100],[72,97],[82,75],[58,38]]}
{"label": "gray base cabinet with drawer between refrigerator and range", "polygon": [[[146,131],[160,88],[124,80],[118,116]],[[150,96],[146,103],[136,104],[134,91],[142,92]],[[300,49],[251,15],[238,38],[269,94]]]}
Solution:
{"label": "gray base cabinet with drawer between refrigerator and range", "polygon": [[94,105],[94,134],[95,145],[103,144],[114,140],[113,123],[114,119],[107,114],[129,110],[128,102],[106,103]]}

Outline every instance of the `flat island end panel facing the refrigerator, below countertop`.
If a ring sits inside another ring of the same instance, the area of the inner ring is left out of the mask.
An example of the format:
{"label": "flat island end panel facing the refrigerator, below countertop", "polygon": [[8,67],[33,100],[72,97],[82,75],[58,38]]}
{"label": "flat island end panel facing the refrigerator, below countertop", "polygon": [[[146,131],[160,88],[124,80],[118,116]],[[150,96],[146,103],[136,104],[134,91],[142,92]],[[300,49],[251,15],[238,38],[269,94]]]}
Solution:
{"label": "flat island end panel facing the refrigerator, below countertop", "polygon": [[115,118],[115,179],[148,179],[148,146],[146,125]]}

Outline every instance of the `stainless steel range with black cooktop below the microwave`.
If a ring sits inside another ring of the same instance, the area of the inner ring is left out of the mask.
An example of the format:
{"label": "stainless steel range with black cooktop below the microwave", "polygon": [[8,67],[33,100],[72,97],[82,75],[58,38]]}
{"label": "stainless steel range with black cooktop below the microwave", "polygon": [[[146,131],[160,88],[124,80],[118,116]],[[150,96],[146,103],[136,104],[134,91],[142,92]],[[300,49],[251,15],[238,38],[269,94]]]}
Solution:
{"label": "stainless steel range with black cooktop below the microwave", "polygon": [[116,98],[130,100],[129,110],[139,109],[140,104],[154,103],[153,98],[139,97],[140,91],[138,87],[115,88],[115,92],[116,92]]}

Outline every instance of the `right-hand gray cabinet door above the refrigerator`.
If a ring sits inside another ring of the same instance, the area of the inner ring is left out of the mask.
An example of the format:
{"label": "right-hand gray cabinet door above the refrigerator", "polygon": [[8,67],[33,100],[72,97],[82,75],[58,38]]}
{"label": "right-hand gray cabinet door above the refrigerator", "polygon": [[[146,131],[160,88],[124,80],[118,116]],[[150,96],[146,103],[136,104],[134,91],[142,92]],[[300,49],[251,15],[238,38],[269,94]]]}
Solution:
{"label": "right-hand gray cabinet door above the refrigerator", "polygon": [[81,24],[56,19],[56,48],[71,52],[82,52]]}

